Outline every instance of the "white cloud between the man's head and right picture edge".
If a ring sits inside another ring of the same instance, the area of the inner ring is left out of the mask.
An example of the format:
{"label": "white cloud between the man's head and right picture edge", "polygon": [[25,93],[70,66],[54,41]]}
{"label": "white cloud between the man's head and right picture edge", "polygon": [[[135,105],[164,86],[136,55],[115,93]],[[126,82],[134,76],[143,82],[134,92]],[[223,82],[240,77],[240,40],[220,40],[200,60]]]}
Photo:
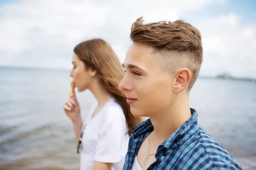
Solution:
{"label": "white cloud between the man's head and right picture edge", "polygon": [[203,37],[202,74],[229,72],[256,77],[256,23],[242,26],[242,18],[230,13],[199,24]]}

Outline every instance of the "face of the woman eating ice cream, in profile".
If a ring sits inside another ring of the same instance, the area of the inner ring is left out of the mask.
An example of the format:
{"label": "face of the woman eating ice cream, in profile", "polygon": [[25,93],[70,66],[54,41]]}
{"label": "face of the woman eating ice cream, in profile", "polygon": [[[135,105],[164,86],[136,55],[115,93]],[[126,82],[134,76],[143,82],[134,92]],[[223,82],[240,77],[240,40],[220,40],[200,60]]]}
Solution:
{"label": "face of the woman eating ice cream, in profile", "polygon": [[75,53],[73,54],[72,63],[73,69],[70,71],[70,77],[73,77],[78,91],[85,91],[89,88],[95,71],[86,69],[84,62],[82,62]]}

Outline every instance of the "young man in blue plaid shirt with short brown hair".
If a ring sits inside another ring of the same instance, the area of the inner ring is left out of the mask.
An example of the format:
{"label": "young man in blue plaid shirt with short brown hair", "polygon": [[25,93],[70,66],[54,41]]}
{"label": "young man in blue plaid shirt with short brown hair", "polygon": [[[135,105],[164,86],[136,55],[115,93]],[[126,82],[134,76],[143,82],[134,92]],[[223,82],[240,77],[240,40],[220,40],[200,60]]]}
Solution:
{"label": "young man in blue plaid shirt with short brown hair", "polygon": [[150,119],[134,127],[124,170],[241,170],[198,124],[189,91],[203,61],[200,32],[182,20],[131,27],[133,44],[119,88],[131,112]]}

